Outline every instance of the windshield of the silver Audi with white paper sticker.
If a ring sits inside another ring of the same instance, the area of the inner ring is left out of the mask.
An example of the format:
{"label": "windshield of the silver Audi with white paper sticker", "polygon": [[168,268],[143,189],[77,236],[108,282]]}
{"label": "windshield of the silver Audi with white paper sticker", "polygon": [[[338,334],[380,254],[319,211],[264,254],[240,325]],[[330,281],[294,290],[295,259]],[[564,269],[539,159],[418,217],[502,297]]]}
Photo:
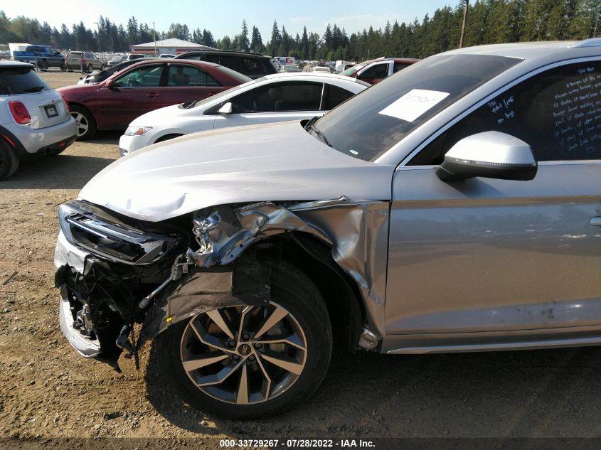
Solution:
{"label": "windshield of the silver Audi with white paper sticker", "polygon": [[492,55],[432,56],[332,109],[308,131],[344,154],[375,161],[427,120],[520,61]]}

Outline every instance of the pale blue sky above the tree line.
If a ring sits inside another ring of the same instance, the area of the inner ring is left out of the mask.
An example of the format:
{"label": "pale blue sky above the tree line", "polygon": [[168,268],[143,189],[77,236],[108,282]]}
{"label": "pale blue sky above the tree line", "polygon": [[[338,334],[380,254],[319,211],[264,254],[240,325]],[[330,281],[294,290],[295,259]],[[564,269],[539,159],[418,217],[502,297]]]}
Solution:
{"label": "pale blue sky above the tree line", "polygon": [[271,36],[274,19],[293,35],[307,30],[323,33],[327,23],[337,23],[352,31],[373,25],[384,26],[386,21],[420,20],[426,13],[432,14],[446,4],[454,6],[454,0],[27,0],[7,1],[0,9],[7,16],[28,16],[47,21],[51,26],[83,21],[90,28],[102,15],[117,23],[127,23],[136,16],[138,21],[154,21],[157,31],[165,31],[172,22],[186,23],[191,29],[207,28],[216,38],[240,33],[240,23],[245,18],[249,28],[255,25],[263,41]]}

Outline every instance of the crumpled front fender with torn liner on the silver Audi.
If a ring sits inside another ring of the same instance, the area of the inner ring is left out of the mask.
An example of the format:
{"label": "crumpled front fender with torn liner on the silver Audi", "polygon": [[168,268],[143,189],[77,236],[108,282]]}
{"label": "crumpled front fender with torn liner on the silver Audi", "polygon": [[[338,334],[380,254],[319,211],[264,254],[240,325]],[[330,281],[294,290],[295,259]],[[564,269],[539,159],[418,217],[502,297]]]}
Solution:
{"label": "crumpled front fender with torn liner on the silver Audi", "polygon": [[193,271],[177,282],[171,294],[156,299],[147,314],[142,338],[152,338],[171,323],[212,309],[269,302],[269,267],[245,255],[255,242],[284,232],[313,235],[331,247],[334,262],[361,292],[368,328],[382,336],[388,211],[388,202],[346,197],[287,206],[262,202],[206,211],[205,217],[213,221],[208,221],[211,227],[198,235],[201,249],[191,253],[196,264]]}

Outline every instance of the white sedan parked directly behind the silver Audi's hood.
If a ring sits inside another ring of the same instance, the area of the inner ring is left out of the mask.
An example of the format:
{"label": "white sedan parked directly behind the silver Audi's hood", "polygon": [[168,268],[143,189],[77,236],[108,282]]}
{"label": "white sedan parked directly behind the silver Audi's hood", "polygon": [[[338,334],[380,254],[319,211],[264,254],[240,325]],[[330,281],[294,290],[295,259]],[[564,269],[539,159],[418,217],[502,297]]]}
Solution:
{"label": "white sedan parked directly behind the silver Audi's hood", "polygon": [[205,100],[155,109],[134,120],[119,139],[122,156],[184,134],[325,114],[370,85],[329,73],[277,73]]}

